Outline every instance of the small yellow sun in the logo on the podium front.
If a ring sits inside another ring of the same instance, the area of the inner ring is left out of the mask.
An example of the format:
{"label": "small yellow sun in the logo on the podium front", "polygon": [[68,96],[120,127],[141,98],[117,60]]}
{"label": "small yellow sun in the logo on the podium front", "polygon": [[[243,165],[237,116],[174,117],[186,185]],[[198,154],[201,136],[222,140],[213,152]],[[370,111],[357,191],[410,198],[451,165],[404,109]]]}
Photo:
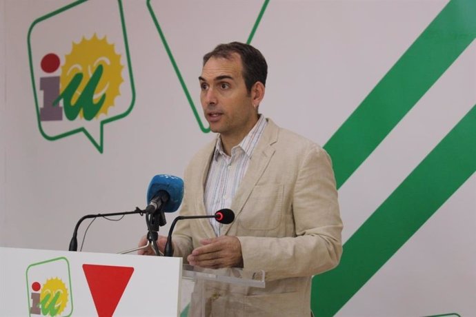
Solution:
{"label": "small yellow sun in the logo on the podium front", "polygon": [[68,303],[68,289],[59,278],[51,278],[41,287],[40,303],[42,311],[50,316],[61,314]]}

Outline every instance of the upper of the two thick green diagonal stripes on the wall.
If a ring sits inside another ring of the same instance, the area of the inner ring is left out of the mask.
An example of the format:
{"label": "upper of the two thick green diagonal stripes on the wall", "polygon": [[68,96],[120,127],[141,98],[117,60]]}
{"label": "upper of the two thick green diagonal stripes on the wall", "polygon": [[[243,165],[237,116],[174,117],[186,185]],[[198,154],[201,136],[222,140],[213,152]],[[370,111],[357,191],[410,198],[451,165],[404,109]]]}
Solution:
{"label": "upper of the two thick green diagonal stripes on the wall", "polygon": [[357,170],[476,34],[476,1],[452,0],[324,146],[337,187]]}

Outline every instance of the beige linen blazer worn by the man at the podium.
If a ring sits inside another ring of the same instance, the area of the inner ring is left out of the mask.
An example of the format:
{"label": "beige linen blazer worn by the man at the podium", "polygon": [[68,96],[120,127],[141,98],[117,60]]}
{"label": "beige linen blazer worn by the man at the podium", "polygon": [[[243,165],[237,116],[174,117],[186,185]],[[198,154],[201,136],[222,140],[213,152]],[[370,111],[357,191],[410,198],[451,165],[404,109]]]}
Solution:
{"label": "beige linen blazer worn by the man at the podium", "polygon": [[[235,221],[221,229],[239,238],[244,269],[266,272],[266,288],[209,287],[208,316],[310,316],[310,279],[339,263],[342,222],[330,157],[267,121],[230,207]],[[186,168],[181,215],[206,214],[204,184],[215,143]],[[213,236],[208,219],[179,221],[174,255],[186,263],[199,241]]]}

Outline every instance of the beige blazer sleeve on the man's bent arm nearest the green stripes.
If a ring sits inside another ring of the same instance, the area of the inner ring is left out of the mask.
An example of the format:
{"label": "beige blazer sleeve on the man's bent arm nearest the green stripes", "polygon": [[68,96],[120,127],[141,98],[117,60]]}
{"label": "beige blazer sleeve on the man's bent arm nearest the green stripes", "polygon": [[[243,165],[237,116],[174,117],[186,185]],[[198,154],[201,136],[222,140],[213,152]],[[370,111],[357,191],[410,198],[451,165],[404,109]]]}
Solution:
{"label": "beige blazer sleeve on the man's bent arm nearest the green stripes", "polygon": [[244,267],[263,269],[267,280],[313,276],[335,267],[341,257],[342,222],[330,157],[315,144],[300,157],[295,184],[285,193],[294,223],[282,224],[291,225],[293,234],[238,236]]}

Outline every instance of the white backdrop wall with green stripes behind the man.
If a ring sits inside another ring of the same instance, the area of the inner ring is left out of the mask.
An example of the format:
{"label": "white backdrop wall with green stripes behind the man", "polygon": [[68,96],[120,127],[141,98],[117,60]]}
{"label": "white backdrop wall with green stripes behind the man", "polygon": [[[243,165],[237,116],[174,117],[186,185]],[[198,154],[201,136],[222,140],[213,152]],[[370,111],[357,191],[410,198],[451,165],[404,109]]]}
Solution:
{"label": "white backdrop wall with green stripes behind the man", "polygon": [[[203,131],[201,57],[249,40],[269,65],[261,112],[335,164],[346,245],[314,280],[317,316],[474,316],[474,14],[470,0],[0,1],[0,245],[67,249],[84,214],[145,207],[150,178],[182,176],[214,137]],[[59,57],[52,72],[41,68],[48,53]],[[108,112],[42,121],[41,77],[64,87],[68,67],[101,54],[123,66],[103,74],[106,93],[119,89]],[[83,250],[119,252],[145,232],[141,216],[98,219]]]}

